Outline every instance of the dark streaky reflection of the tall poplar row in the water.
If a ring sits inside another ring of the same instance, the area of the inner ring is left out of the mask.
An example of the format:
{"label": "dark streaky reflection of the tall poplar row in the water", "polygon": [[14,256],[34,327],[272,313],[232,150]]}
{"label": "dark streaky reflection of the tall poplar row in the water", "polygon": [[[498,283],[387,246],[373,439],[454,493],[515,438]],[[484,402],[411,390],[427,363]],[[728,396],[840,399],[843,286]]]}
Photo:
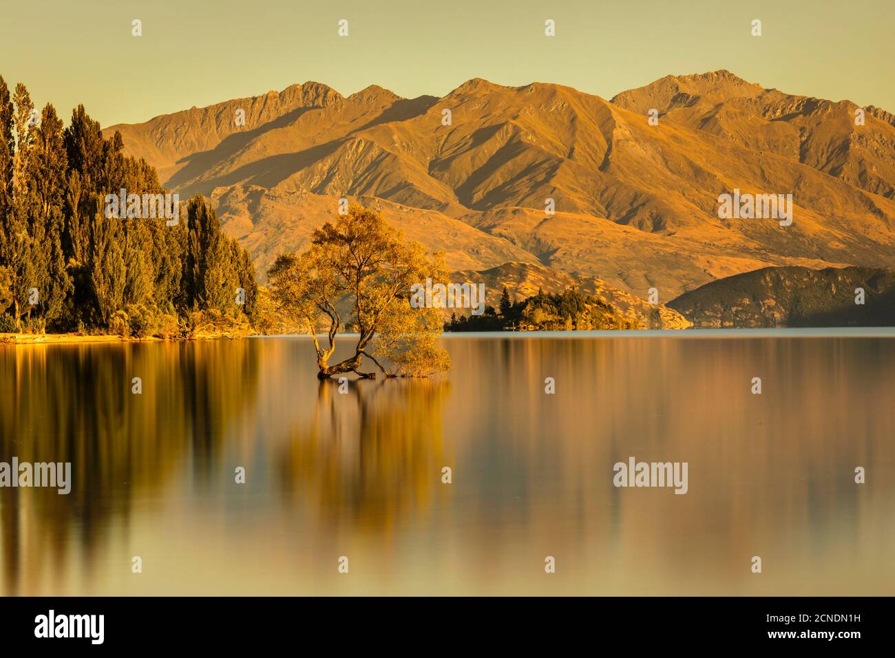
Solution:
{"label": "dark streaky reflection of the tall poplar row in the water", "polygon": [[219,449],[254,405],[257,367],[251,341],[0,347],[0,461],[72,463],[68,495],[0,489],[8,593],[44,565],[64,573],[73,528],[90,564],[136,493],[158,491],[191,445]]}

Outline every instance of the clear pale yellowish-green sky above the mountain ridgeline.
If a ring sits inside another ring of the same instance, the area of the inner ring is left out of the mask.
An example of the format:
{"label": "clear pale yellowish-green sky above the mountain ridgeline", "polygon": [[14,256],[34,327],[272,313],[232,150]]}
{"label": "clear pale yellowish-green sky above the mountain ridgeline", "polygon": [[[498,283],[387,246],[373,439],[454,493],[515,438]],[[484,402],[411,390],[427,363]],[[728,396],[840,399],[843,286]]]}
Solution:
{"label": "clear pale yellowish-green sky above the mountain ridgeline", "polygon": [[895,112],[893,30],[895,0],[4,0],[0,75],[66,123],[83,103],[103,126],[309,80],[345,96],[484,78],[612,98],[718,69]]}

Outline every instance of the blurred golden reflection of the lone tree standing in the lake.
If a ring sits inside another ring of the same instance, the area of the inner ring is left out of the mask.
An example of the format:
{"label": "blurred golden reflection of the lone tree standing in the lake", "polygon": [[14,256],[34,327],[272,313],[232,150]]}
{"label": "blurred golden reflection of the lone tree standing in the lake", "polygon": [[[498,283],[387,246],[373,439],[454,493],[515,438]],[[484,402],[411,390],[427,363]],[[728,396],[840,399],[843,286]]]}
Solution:
{"label": "blurred golden reflection of the lone tree standing in the lake", "polygon": [[[277,454],[286,498],[328,524],[381,529],[430,506],[447,463],[444,380],[321,381],[310,421]],[[298,502],[299,500],[303,502]]]}

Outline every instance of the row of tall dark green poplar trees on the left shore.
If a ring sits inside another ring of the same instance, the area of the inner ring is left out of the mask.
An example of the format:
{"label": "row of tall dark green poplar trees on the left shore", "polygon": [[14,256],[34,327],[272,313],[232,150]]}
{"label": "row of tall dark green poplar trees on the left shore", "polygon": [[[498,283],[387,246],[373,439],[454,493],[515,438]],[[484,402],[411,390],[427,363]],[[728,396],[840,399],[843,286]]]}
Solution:
{"label": "row of tall dark green poplar trees on the left shore", "polygon": [[251,257],[201,197],[176,226],[107,218],[107,194],[165,192],[155,169],[124,155],[120,133],[104,139],[83,106],[68,127],[52,105],[34,109],[0,77],[0,331],[150,334],[202,312],[251,322]]}

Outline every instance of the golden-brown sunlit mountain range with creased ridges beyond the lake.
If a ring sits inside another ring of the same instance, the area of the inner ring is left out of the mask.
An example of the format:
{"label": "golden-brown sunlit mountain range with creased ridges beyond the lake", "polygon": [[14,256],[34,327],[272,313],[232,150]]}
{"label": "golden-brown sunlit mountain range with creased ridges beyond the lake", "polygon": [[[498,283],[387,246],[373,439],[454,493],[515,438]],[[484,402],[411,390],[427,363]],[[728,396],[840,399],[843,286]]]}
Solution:
{"label": "golden-brown sunlit mountain range with creased ridges beyond the lake", "polygon": [[[467,278],[504,268],[519,289],[519,271],[549,269],[639,298],[654,287],[668,303],[767,267],[895,265],[895,115],[728,71],[611,100],[481,79],[442,98],[376,86],[343,97],[309,81],[114,131],[172,192],[217,205],[262,281],[340,198],[378,209]],[[734,189],[791,193],[793,223],[719,218]]]}

